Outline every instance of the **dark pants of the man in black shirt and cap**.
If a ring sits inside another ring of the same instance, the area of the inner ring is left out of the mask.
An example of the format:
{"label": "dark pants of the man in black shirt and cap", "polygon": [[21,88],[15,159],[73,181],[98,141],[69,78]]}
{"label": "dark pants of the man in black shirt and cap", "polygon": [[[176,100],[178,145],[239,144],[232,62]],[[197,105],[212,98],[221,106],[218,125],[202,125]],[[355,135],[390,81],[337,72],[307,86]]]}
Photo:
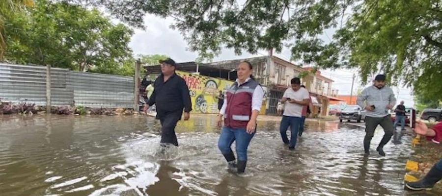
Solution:
{"label": "dark pants of the man in black shirt and cap", "polygon": [[161,141],[162,144],[173,144],[178,146],[178,140],[176,139],[175,126],[181,119],[182,112],[169,113],[160,119],[161,122]]}

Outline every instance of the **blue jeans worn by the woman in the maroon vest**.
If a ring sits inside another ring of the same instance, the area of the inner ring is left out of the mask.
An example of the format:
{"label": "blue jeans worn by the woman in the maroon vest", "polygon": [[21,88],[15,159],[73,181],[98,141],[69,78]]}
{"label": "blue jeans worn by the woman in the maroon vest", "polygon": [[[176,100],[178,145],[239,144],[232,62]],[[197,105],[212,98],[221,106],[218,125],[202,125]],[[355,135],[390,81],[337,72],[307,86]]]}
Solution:
{"label": "blue jeans worn by the woman in the maroon vest", "polygon": [[230,146],[232,146],[235,141],[238,161],[247,161],[247,148],[255,133],[256,131],[249,134],[246,132],[246,129],[235,129],[224,126],[222,127],[220,140],[218,141],[218,148],[220,148],[222,154],[232,153]]}

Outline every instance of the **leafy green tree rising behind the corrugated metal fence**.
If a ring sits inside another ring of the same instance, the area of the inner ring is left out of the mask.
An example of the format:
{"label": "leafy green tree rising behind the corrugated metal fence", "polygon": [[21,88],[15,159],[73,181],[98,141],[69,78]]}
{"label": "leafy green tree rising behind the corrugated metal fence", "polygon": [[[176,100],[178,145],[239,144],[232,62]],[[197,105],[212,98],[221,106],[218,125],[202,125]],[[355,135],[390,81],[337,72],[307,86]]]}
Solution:
{"label": "leafy green tree rising behind the corrugated metal fence", "polygon": [[36,0],[27,15],[5,20],[9,61],[118,74],[132,59],[133,30],[114,25],[97,9],[67,2]]}

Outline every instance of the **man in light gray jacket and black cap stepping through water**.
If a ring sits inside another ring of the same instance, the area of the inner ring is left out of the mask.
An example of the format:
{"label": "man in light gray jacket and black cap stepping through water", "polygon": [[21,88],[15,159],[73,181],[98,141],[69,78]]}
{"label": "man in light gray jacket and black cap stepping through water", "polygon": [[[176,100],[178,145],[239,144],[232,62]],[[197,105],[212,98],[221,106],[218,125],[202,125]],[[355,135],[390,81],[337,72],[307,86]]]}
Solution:
{"label": "man in light gray jacket and black cap stepping through water", "polygon": [[373,138],[378,124],[384,128],[385,132],[381,143],[376,148],[381,156],[385,156],[384,146],[390,141],[394,133],[388,110],[391,110],[396,104],[396,98],[394,98],[393,90],[385,86],[385,79],[386,76],[383,74],[376,75],[373,85],[365,88],[357,100],[358,105],[367,111],[364,138],[365,155],[370,154],[371,138]]}

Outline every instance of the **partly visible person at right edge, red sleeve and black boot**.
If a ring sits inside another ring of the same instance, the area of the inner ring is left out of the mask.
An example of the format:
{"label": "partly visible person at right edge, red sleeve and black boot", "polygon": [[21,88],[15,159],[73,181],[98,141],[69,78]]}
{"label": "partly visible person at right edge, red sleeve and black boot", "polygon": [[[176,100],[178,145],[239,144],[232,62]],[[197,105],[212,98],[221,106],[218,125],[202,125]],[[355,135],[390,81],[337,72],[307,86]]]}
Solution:
{"label": "partly visible person at right edge, red sleeve and black boot", "polygon": [[[419,135],[427,136],[429,141],[437,141],[438,143],[442,136],[442,122],[436,124],[433,128],[428,128],[425,123],[416,121],[416,126],[414,132]],[[439,143],[438,143],[439,144]],[[433,186],[440,181],[442,178],[442,159],[436,163],[430,172],[428,172],[424,178],[417,182],[411,182],[405,184],[410,190],[420,191],[420,190],[431,190]]]}

